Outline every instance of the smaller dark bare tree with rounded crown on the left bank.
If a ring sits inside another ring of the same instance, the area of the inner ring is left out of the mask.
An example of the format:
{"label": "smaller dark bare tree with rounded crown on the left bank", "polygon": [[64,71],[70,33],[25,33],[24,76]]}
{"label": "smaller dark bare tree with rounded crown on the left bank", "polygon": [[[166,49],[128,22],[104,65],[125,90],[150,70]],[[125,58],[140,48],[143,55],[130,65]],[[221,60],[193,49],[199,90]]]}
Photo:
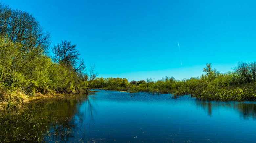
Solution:
{"label": "smaller dark bare tree with rounded crown on the left bank", "polygon": [[[71,90],[75,89],[76,92],[84,79],[83,74],[81,73],[85,71],[86,67],[84,60],[79,59],[81,54],[76,50],[76,44],[71,44],[70,41],[62,40],[61,43],[54,45],[51,50],[53,52],[53,64],[48,69],[50,71],[49,74],[52,74],[52,66],[56,63],[58,66],[62,66],[65,75],[63,74],[64,76],[62,77],[61,82],[66,83],[66,85],[61,88],[61,90],[67,92],[67,89],[73,84]],[[54,74],[56,75],[58,72],[55,72]]]}

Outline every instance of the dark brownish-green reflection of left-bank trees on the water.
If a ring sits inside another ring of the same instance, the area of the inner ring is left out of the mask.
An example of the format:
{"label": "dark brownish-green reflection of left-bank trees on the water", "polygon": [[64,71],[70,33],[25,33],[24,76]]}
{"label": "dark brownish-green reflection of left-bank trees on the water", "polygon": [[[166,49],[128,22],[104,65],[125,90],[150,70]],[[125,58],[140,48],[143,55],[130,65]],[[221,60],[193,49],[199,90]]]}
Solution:
{"label": "dark brownish-green reflection of left-bank trees on the water", "polygon": [[24,105],[15,111],[0,113],[0,142],[44,141],[68,142],[78,130],[78,105],[87,101],[90,120],[93,122],[92,105],[88,96],[79,98],[46,98]]}

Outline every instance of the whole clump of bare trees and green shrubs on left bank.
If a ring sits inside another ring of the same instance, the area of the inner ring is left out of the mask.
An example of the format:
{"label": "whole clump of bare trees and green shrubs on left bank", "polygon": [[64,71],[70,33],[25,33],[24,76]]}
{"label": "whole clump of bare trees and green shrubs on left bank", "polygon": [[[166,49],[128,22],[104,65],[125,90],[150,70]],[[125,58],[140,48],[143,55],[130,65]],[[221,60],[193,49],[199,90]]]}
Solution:
{"label": "whole clump of bare trees and green shrubs on left bank", "polygon": [[50,33],[32,14],[0,3],[0,103],[12,106],[26,95],[88,90],[97,75],[94,65],[85,74],[75,44],[50,43]]}

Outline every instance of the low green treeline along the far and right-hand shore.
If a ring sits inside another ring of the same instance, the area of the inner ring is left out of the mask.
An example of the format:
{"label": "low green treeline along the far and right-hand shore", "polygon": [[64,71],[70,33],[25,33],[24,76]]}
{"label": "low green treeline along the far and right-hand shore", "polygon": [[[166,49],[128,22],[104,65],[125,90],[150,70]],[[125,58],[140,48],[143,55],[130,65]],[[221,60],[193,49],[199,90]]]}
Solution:
{"label": "low green treeline along the far and right-hand shore", "polygon": [[202,100],[256,100],[256,62],[239,62],[232,72],[227,73],[217,72],[212,69],[211,63],[208,63],[203,68],[203,72],[206,74],[190,79],[176,80],[174,77],[166,76],[158,81],[150,78],[146,81],[131,81],[130,83],[127,79],[96,78],[93,85],[97,88],[129,92],[191,94]]}

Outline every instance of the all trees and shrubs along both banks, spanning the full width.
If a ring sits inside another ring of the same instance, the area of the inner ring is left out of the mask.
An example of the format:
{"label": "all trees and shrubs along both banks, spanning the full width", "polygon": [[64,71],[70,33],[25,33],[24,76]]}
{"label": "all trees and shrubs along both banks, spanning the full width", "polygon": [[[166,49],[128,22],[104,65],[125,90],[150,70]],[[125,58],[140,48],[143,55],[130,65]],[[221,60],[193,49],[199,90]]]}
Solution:
{"label": "all trees and shrubs along both banks, spanning the full width", "polygon": [[[87,93],[93,87],[131,92],[191,94],[202,100],[255,100],[256,62],[239,62],[233,72],[219,73],[211,63],[203,68],[205,75],[175,80],[174,77],[138,82],[123,78],[96,78],[95,65],[84,73],[76,45],[62,40],[49,49],[50,35],[43,32],[39,22],[21,10],[0,3],[0,102],[15,106],[15,94],[25,93]],[[80,59],[80,60],[79,60]],[[4,95],[4,96],[3,96]],[[16,96],[18,97],[18,96]]]}

